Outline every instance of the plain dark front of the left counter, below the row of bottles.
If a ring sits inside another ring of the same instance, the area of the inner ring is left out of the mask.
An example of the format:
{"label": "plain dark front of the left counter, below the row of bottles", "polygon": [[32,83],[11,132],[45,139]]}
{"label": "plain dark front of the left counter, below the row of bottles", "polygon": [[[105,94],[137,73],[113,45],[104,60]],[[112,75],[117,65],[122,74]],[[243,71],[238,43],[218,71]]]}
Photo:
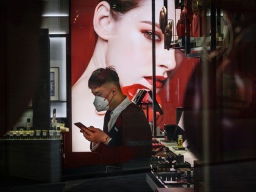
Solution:
{"label": "plain dark front of the left counter, below the row of bottles", "polygon": [[43,182],[62,178],[62,140],[1,140],[4,174]]}

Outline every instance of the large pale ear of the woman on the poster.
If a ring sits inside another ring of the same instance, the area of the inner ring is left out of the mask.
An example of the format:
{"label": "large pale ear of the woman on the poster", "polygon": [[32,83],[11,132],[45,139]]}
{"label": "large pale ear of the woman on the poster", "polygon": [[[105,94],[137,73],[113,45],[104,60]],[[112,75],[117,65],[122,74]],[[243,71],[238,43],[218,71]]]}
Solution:
{"label": "large pale ear of the woman on the poster", "polygon": [[94,12],[93,27],[96,34],[104,40],[108,40],[111,20],[110,5],[106,1],[99,2]]}

